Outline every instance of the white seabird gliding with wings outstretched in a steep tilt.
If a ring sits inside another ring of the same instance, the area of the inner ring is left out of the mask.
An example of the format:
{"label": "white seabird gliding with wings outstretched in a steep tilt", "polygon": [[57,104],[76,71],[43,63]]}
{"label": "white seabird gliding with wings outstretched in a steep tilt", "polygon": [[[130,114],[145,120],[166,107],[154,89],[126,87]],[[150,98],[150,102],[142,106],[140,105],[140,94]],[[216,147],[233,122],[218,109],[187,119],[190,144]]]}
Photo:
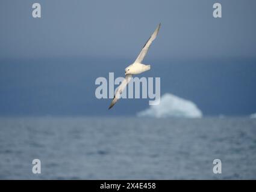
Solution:
{"label": "white seabird gliding with wings outstretched in a steep tilt", "polygon": [[160,26],[161,26],[161,23],[159,23],[159,25],[155,29],[154,33],[151,35],[151,37],[148,39],[148,41],[146,41],[145,45],[143,46],[142,50],[140,51],[139,56],[134,61],[134,63],[125,68],[125,79],[122,81],[122,83],[117,88],[116,94],[114,94],[114,98],[111,101],[111,104],[108,107],[108,109],[111,109],[111,107],[113,107],[114,104],[116,104],[116,102],[119,100],[123,89],[125,89],[126,85],[130,82],[133,74],[140,74],[140,73],[150,70],[150,65],[142,64],[142,61],[145,58],[146,53],[148,52],[148,49],[151,46],[152,41],[154,41],[155,38],[157,37]]}

